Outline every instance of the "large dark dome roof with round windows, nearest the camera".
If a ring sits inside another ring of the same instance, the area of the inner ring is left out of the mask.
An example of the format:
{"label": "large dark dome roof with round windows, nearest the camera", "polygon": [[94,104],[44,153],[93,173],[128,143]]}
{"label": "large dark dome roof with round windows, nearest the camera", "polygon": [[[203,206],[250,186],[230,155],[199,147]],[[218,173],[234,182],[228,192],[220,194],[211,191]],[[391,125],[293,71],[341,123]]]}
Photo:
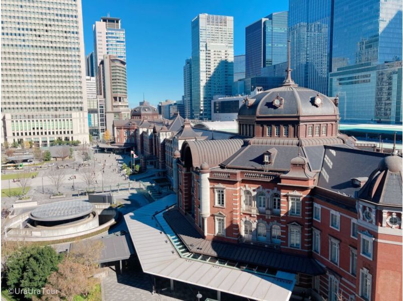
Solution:
{"label": "large dark dome roof with round windows, nearest the camera", "polygon": [[312,116],[338,115],[339,110],[327,96],[303,87],[283,85],[244,101],[239,116]]}

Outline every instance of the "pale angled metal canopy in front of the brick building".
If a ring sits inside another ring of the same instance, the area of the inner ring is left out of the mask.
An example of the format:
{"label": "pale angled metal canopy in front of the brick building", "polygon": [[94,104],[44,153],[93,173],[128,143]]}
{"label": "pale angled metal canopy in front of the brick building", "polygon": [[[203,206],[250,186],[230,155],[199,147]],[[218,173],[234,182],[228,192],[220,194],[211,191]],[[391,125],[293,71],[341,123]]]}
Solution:
{"label": "pale angled metal canopy in front of the brick building", "polygon": [[[295,275],[277,272],[268,276],[223,264],[182,257],[175,247],[175,233],[162,213],[172,207],[171,194],[124,216],[143,271],[189,284],[256,300],[288,300]],[[190,253],[191,254],[191,253]]]}

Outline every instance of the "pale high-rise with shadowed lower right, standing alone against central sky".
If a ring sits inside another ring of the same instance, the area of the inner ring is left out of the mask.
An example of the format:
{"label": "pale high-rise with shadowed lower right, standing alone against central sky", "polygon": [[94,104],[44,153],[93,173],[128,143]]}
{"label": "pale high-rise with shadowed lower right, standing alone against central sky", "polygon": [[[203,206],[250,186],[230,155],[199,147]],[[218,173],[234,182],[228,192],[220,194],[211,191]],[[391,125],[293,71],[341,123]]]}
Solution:
{"label": "pale high-rise with shadowed lower right, standing alone against central sky", "polygon": [[234,18],[200,14],[192,20],[192,116],[211,119],[214,95],[231,95]]}

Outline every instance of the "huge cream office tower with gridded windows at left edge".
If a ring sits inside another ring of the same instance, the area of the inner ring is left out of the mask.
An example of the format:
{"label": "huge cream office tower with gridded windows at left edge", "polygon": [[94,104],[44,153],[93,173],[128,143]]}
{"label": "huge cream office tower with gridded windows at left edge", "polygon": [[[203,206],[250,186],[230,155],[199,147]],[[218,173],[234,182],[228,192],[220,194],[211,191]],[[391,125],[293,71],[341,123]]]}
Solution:
{"label": "huge cream office tower with gridded windows at left edge", "polygon": [[81,0],[1,7],[4,141],[88,142]]}

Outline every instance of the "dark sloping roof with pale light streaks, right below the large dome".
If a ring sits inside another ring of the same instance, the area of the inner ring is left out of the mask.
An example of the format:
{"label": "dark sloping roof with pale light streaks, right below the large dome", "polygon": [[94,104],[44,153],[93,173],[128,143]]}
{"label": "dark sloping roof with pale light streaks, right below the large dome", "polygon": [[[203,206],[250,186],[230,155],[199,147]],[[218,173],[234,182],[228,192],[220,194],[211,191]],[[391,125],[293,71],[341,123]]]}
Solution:
{"label": "dark sloping roof with pale light streaks, right below the large dome", "polygon": [[385,154],[338,146],[325,146],[317,186],[334,192],[355,196],[352,178],[368,177]]}

